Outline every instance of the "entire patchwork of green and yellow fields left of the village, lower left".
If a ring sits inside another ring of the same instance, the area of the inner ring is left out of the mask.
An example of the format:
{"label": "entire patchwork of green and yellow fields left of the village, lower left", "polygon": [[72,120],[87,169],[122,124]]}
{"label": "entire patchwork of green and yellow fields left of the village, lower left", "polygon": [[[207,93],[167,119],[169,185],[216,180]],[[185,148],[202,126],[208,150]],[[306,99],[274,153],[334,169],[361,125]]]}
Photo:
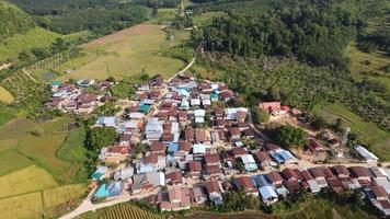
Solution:
{"label": "entire patchwork of green and yellow fields left of the village, lower left", "polygon": [[57,157],[70,123],[19,118],[0,128],[0,218],[57,217],[87,192],[73,184],[82,162]]}

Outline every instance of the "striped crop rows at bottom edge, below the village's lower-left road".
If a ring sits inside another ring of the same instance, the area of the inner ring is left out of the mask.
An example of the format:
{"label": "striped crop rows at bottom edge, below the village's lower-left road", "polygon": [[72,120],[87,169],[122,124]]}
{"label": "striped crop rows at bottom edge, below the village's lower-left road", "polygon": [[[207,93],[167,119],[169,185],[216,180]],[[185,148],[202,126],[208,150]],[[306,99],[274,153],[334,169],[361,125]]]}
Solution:
{"label": "striped crop rows at bottom edge, below the village's lower-left road", "polygon": [[103,212],[96,214],[96,216],[100,219],[160,219],[160,217],[151,212],[126,204],[106,208]]}

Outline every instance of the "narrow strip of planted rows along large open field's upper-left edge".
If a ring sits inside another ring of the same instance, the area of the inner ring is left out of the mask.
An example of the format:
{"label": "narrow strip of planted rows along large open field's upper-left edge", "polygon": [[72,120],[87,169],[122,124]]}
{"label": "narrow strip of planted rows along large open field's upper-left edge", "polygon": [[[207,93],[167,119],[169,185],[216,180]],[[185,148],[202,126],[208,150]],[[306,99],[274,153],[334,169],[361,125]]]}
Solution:
{"label": "narrow strip of planted rows along large open field's upper-left edge", "polygon": [[73,59],[80,55],[80,48],[71,48],[65,51],[61,51],[59,54],[56,54],[55,56],[51,56],[49,58],[46,58],[44,60],[37,61],[33,64],[31,67],[28,67],[28,71],[33,70],[47,70],[47,69],[54,69],[64,62],[69,61],[70,59]]}

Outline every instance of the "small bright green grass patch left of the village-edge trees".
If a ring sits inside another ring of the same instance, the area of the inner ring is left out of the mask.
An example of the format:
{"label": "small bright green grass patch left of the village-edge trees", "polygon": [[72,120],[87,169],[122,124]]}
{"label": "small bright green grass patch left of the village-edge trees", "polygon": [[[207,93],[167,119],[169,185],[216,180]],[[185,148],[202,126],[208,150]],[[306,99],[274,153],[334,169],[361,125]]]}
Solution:
{"label": "small bright green grass patch left of the village-edge trees", "polygon": [[84,127],[79,127],[69,132],[61,148],[57,152],[57,157],[65,161],[82,162],[85,160],[87,149],[84,140],[87,131]]}

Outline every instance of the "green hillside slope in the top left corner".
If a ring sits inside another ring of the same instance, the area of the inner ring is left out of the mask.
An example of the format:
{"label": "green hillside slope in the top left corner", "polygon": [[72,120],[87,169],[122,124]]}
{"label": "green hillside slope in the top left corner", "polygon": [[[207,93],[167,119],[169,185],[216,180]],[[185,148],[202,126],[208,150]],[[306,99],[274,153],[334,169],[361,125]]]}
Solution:
{"label": "green hillside slope in the top left corner", "polygon": [[0,1],[0,38],[23,33],[34,26],[30,15],[10,3]]}

